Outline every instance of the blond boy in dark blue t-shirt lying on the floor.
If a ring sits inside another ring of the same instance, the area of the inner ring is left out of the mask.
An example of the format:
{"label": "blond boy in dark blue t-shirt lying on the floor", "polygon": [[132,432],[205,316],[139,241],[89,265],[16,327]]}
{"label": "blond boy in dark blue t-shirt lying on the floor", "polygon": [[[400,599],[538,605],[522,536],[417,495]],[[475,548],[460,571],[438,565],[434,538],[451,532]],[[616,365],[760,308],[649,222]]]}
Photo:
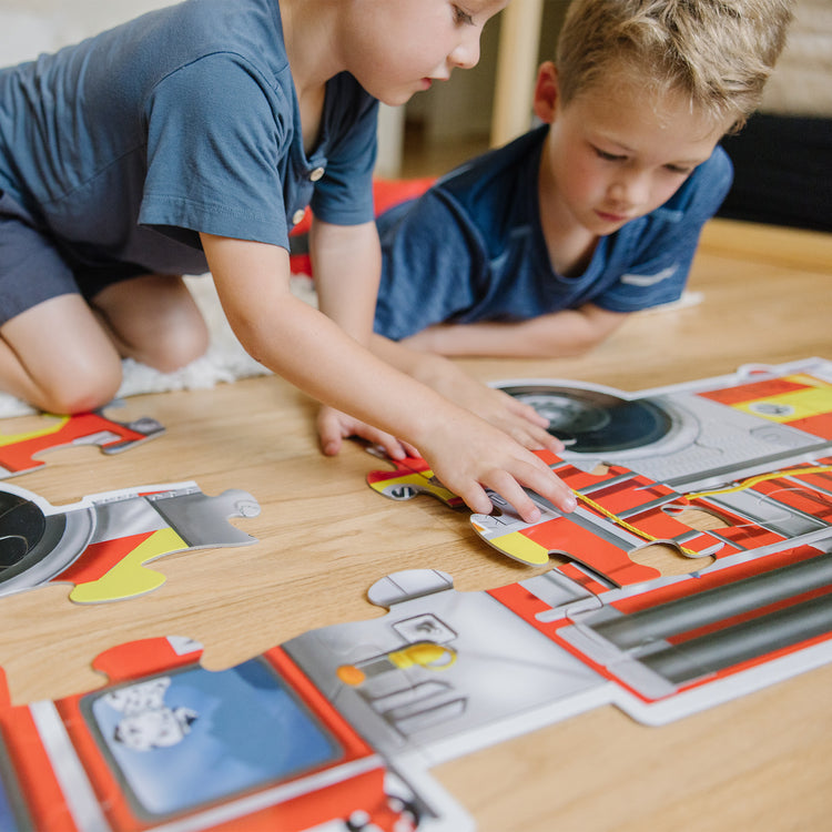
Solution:
{"label": "blond boy in dark blue t-shirt lying on the floor", "polygon": [[677,300],[731,184],[790,0],[574,0],[544,125],[378,220],[376,332],[450,356],[578,355]]}

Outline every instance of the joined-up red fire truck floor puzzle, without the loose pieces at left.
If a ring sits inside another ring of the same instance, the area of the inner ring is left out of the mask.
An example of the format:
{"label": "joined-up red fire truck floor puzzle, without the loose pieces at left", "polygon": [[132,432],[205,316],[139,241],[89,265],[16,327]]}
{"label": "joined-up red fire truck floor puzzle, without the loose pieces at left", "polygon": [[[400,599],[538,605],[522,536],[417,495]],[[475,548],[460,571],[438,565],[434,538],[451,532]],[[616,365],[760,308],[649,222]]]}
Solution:
{"label": "joined-up red fire truck floor puzzle, without the loose pieces at left", "polygon": [[[565,562],[471,592],[395,572],[368,592],[383,617],[224,671],[149,639],[100,656],[98,690],[7,696],[0,828],[464,832],[443,761],[605,704],[666,724],[832,659],[832,364],[638,394],[500,386],[550,417],[566,450],[546,459],[579,508],[532,494],[528,525],[494,495],[471,524],[515,560]],[[373,488],[458,505],[423,460],[393,467]],[[632,559],[657,542],[690,571]]]}

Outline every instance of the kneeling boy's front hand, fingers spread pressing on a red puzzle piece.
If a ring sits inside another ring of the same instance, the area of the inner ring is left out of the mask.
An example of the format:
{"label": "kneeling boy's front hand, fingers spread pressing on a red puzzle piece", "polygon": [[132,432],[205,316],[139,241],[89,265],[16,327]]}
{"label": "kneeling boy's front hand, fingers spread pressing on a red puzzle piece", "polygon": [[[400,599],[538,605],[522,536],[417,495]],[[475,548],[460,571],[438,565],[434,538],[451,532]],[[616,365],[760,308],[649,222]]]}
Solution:
{"label": "kneeling boy's front hand, fingers spread pressing on a red puzzle piece", "polygon": [[536,522],[540,510],[524,486],[561,511],[577,507],[571,489],[546,463],[480,419],[471,417],[465,425],[449,425],[427,437],[423,445],[422,455],[436,477],[459,495],[471,511],[488,514],[493,509],[485,490],[490,488],[513,505],[526,522]]}

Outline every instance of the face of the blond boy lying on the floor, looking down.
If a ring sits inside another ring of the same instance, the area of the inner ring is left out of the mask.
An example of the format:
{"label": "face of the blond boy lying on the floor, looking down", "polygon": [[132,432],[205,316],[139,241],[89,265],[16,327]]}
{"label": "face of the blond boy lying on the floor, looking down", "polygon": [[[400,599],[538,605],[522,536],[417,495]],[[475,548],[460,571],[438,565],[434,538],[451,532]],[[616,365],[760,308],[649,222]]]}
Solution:
{"label": "face of the blond boy lying on the floor, looking down", "polygon": [[599,236],[667,202],[729,126],[691,112],[683,97],[656,102],[633,84],[592,88],[567,105],[555,94],[548,109],[541,94],[539,78],[536,111],[551,124],[541,195],[554,201],[560,222]]}

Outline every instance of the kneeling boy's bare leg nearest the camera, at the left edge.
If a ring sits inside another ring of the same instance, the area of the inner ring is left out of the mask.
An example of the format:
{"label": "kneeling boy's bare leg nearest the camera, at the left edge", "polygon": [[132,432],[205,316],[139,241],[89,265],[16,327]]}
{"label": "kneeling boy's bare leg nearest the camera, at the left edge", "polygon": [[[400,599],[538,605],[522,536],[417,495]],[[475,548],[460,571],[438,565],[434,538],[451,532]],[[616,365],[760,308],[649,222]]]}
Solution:
{"label": "kneeling boy's bare leg nearest the camera, at the left edge", "polygon": [[110,402],[121,359],[80,295],[60,295],[0,327],[0,389],[50,413]]}

